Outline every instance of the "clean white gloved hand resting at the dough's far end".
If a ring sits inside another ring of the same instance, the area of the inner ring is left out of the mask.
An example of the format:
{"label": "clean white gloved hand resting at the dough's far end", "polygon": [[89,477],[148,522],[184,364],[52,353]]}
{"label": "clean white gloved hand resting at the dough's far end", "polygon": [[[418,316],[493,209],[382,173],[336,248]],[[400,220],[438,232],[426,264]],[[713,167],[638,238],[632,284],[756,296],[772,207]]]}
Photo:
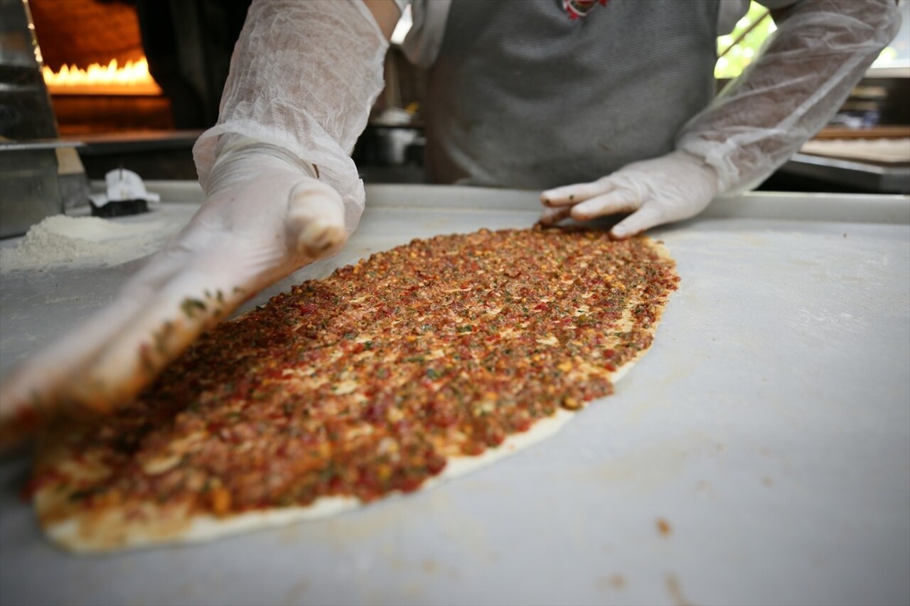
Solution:
{"label": "clean white gloved hand resting at the dough's far end", "polygon": [[541,203],[548,208],[541,214],[541,223],[632,213],[610,231],[612,237],[629,237],[663,223],[694,217],[717,191],[717,174],[712,167],[698,157],[675,151],[632,163],[591,183],[542,192]]}

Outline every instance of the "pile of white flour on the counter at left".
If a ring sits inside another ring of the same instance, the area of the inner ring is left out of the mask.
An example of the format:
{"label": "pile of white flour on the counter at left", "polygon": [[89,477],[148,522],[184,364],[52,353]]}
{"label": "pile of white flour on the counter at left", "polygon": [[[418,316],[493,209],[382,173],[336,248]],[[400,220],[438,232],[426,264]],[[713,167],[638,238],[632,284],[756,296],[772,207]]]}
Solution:
{"label": "pile of white flour on the counter at left", "polygon": [[155,252],[176,231],[164,221],[115,223],[98,217],[47,217],[16,247],[0,248],[0,272],[110,267]]}

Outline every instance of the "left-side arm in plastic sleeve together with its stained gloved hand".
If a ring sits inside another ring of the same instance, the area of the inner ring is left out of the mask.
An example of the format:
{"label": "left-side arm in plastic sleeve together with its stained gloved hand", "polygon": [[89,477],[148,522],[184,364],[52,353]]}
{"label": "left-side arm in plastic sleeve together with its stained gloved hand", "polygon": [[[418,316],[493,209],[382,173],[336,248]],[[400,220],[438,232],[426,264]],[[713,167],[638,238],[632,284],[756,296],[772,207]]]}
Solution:
{"label": "left-side arm in plastic sleeve together with its stained gloved hand", "polygon": [[[390,31],[398,9],[377,10]],[[370,11],[254,0],[218,123],[193,149],[205,205],[113,303],[0,386],[0,447],[22,437],[35,404],[131,398],[258,289],[345,242],[364,202],[349,153],[388,48]]]}

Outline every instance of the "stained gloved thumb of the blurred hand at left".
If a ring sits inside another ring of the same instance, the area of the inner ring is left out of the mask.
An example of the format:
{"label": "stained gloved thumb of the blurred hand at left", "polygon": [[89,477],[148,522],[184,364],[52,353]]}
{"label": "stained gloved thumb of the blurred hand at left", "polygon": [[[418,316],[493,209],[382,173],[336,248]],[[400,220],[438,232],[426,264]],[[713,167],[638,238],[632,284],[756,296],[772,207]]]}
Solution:
{"label": "stained gloved thumb of the blurred hand at left", "polygon": [[327,257],[348,241],[344,203],[332,187],[305,179],[288,195],[288,246],[298,256]]}

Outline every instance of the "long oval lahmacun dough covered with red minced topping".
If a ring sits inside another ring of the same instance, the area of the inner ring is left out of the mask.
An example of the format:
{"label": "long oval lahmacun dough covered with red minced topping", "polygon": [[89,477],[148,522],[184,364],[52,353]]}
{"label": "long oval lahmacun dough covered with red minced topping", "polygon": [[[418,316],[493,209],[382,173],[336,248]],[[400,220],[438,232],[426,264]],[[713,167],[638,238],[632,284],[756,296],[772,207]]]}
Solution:
{"label": "long oval lahmacun dough covered with red minced topping", "polygon": [[662,245],[582,229],[374,254],[222,323],[113,415],[47,429],[39,520],[69,550],[119,550],[426,488],[609,395],[678,280]]}

